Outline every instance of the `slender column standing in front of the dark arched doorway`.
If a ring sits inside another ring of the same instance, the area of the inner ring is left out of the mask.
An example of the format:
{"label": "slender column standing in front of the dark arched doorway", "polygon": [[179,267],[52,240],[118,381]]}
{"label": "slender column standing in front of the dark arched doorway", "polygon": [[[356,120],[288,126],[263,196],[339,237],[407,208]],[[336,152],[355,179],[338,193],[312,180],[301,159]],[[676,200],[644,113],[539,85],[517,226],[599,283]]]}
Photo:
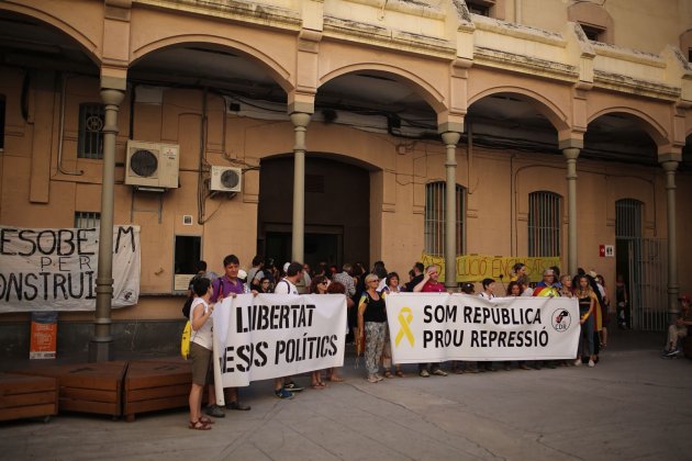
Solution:
{"label": "slender column standing in front of the dark arched doorway", "polygon": [[291,260],[303,262],[305,241],[305,132],[311,114],[293,112],[291,122],[295,130],[293,146],[293,225]]}

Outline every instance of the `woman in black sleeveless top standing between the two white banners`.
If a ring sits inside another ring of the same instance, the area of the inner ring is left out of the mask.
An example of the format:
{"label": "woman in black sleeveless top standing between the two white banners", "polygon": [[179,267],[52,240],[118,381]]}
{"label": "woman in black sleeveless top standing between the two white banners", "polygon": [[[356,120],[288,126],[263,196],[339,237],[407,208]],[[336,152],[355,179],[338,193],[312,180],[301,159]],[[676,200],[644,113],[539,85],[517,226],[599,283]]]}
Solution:
{"label": "woman in black sleeveless top standing between the two white banners", "polygon": [[[384,348],[384,333],[387,327],[387,310],[384,300],[377,292],[380,279],[369,273],[365,278],[366,291],[358,303],[358,331],[365,331],[365,358],[368,371],[368,382],[382,381],[378,374],[382,349]],[[365,328],[365,329],[364,329]],[[358,346],[362,348],[362,336],[356,337]]]}

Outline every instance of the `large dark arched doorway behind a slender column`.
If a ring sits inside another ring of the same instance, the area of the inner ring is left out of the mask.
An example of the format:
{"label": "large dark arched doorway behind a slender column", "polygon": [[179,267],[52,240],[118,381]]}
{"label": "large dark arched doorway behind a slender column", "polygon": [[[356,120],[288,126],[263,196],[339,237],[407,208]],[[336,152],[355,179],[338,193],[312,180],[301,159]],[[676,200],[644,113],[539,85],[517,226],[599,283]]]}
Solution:
{"label": "large dark arched doorway behind a slender column", "polygon": [[[293,158],[265,159],[259,173],[257,254],[281,265],[291,258]],[[370,175],[362,167],[324,157],[305,161],[304,261],[368,262]]]}

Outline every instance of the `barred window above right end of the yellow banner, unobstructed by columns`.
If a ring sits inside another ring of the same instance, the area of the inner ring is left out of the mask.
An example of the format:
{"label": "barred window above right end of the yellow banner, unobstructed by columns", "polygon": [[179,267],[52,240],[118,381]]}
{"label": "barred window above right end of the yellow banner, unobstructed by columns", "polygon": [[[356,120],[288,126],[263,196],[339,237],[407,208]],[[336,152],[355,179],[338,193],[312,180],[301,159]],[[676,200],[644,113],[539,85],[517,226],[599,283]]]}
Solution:
{"label": "barred window above right end of the yellow banner, unobstructed by columns", "polygon": [[560,195],[528,194],[528,256],[560,256]]}

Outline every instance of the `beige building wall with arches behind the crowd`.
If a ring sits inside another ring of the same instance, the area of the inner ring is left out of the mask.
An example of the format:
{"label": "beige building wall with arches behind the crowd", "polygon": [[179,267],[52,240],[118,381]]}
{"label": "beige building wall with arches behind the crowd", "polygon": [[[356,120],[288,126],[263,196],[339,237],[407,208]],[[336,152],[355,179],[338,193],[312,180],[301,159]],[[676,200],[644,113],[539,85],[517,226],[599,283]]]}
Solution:
{"label": "beige building wall with arches behind the crowd", "polygon": [[[161,2],[163,7],[164,3]],[[299,18],[297,11],[289,11],[299,3],[284,5],[288,16],[294,13]],[[666,7],[661,7],[661,3]],[[36,9],[26,8],[25,4]],[[524,24],[557,33],[565,31],[566,2],[523,0],[522,5]],[[121,71],[127,65],[145,59],[148,53],[155,53],[165,46],[179,43],[213,44],[227,46],[228,49],[259,63],[287,90],[289,100],[295,97],[294,90],[298,87],[302,91],[300,97],[311,100],[311,91],[319,91],[320,85],[338,75],[373,69],[390,72],[395,79],[409,82],[438,114],[449,112],[451,101],[459,102],[458,106],[453,108],[459,115],[460,110],[467,109],[480,97],[510,91],[539,101],[540,103],[535,104],[536,111],[553,122],[556,131],[560,132],[561,139],[569,135],[579,138],[580,128],[587,126],[594,116],[610,111],[628,112],[639,117],[645,122],[643,126],[649,130],[659,145],[670,143],[673,138],[673,106],[679,101],[672,97],[643,97],[637,94],[636,88],[625,85],[620,89],[590,89],[585,88],[589,85],[584,85],[583,94],[578,98],[574,85],[581,75],[588,75],[584,68],[588,70],[588,64],[593,56],[589,57],[585,53],[587,57],[574,60],[567,50],[568,42],[572,40],[569,36],[542,37],[538,33],[532,35],[526,31],[523,35],[503,31],[504,40],[514,44],[515,52],[524,49],[527,59],[544,52],[550,59],[561,59],[559,63],[550,61],[547,66],[549,69],[543,69],[540,77],[537,77],[531,65],[522,64],[524,67],[521,67],[516,59],[504,64],[500,58],[494,61],[488,59],[469,70],[460,65],[451,66],[450,63],[461,55],[461,44],[468,42],[464,34],[471,32],[442,27],[446,24],[444,18],[435,14],[427,18],[421,31],[434,31],[437,38],[446,41],[444,46],[439,45],[433,53],[424,47],[416,48],[414,38],[411,38],[404,53],[393,43],[384,46],[372,37],[357,37],[355,34],[337,37],[333,30],[323,31],[319,25],[315,25],[317,29],[312,33],[324,33],[324,36],[320,35],[321,40],[315,40],[311,45],[302,42],[299,44],[298,20],[286,20],[281,24],[267,20],[261,26],[257,26],[256,23],[243,24],[242,18],[181,14],[165,8],[139,8],[136,3],[127,27],[119,29],[114,36],[108,35],[107,40],[111,43],[104,45],[102,2],[36,0],[8,2],[4,8],[25,14],[34,11],[42,21],[70,34],[94,61],[107,55],[113,43],[124,43],[127,46],[129,61]],[[373,4],[370,4],[369,10],[372,8]],[[612,0],[606,3],[606,9],[615,21],[615,45],[649,53],[659,53],[666,44],[676,45],[682,30],[692,23],[691,8],[684,1]],[[355,10],[357,9],[348,10],[349,14]],[[400,18],[400,14],[404,13],[399,11],[391,15],[393,19],[387,18],[386,25],[395,25],[392,21]],[[405,14],[409,14],[408,20],[399,24],[402,27],[411,23],[411,12]],[[644,30],[654,30],[656,33],[639,32]],[[483,33],[492,37],[494,32],[488,26]],[[454,53],[455,47],[457,54]],[[300,59],[304,59],[308,65],[302,66],[303,61]],[[662,59],[641,59],[644,64],[635,65],[630,60],[617,63],[622,65],[622,69],[633,75],[637,75],[639,68],[645,68],[646,71],[654,69],[651,75],[655,76],[672,74],[674,70]],[[528,61],[535,66],[540,64]],[[559,67],[557,64],[571,66],[571,70],[560,74],[559,69],[556,70]],[[451,85],[453,74],[461,81],[457,81],[456,87]],[[648,77],[641,72],[638,76]],[[8,108],[5,148],[0,157],[0,224],[25,227],[71,226],[75,211],[98,211],[100,207],[102,164],[100,160],[77,159],[79,103],[100,101],[100,81],[96,77],[81,76],[70,77],[67,81],[62,166],[70,171],[82,170],[83,175],[77,177],[58,171],[59,93],[55,88],[59,85],[56,79],[55,75],[46,75],[36,80],[41,85],[31,89],[30,117],[24,121],[19,109],[23,71],[0,68],[0,93],[7,95]],[[593,83],[593,79],[589,83]],[[678,78],[678,86],[688,83],[682,77]],[[451,88],[456,88],[458,93],[450,94]],[[219,261],[230,249],[239,256],[242,266],[249,267],[257,239],[259,173],[245,173],[244,192],[232,199],[208,199],[207,213],[202,216],[208,221],[200,225],[197,224],[200,155],[203,154],[211,165],[231,165],[230,160],[239,160],[244,165],[256,167],[263,158],[291,153],[294,133],[288,117],[284,121],[237,117],[222,112],[222,101],[210,94],[207,104],[208,144],[204,153],[200,153],[203,116],[201,91],[166,89],[160,104],[135,103],[134,114],[130,113],[130,97],[127,91],[119,115],[114,221],[132,222],[142,226],[142,291],[159,294],[171,291],[172,240],[176,234],[201,236],[202,257],[210,262],[212,270],[221,271]],[[687,133],[692,132],[690,110],[685,104],[680,104],[679,111],[684,113]],[[155,195],[134,193],[131,187],[123,184],[125,144],[130,137],[132,116],[135,117],[133,138],[180,145],[179,189]],[[576,133],[572,134],[572,131]],[[445,150],[442,142],[409,142],[338,124],[313,123],[308,127],[308,148],[309,153],[347,157],[349,161],[370,171],[370,238],[364,245],[369,246],[370,262],[383,259],[389,269],[399,271],[405,280],[404,274],[423,251],[425,184],[445,178]],[[480,148],[475,148],[469,155],[468,146],[460,145],[457,148],[457,182],[468,191],[467,252],[525,255],[528,193],[548,190],[567,200],[565,160],[560,156]],[[614,244],[615,201],[635,198],[644,202],[646,236],[666,237],[665,178],[660,168],[585,160],[579,160],[578,173],[579,263],[603,271],[609,280],[613,280],[615,262],[599,259],[598,245]],[[692,291],[689,257],[692,255],[692,244],[684,238],[684,229],[692,225],[692,213],[685,200],[692,192],[690,179],[689,173],[677,175],[678,245],[681,255],[679,277],[683,292]],[[163,210],[160,223],[159,199]],[[194,217],[192,226],[181,224],[182,215],[187,214]],[[567,252],[566,224],[565,222],[562,255]],[[75,318],[90,317],[89,314],[69,315]],[[134,308],[114,312],[114,318],[178,316],[179,301],[165,296],[144,297]]]}

